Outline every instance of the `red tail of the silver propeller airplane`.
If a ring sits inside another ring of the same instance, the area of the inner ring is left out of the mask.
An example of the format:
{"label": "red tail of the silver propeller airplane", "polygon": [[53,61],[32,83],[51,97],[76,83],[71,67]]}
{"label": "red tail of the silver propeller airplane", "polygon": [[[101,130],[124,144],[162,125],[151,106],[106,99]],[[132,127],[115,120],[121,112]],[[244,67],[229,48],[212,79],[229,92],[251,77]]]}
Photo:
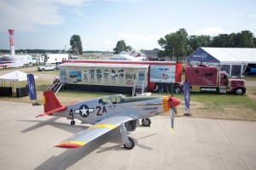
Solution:
{"label": "red tail of the silver propeller airplane", "polygon": [[44,91],[43,103],[44,103],[44,113],[38,116],[45,116],[45,115],[52,116],[52,114],[55,111],[64,111],[67,109],[67,105],[64,105],[64,106],[61,105],[61,103],[59,102],[59,100],[56,98],[55,94],[51,90]]}

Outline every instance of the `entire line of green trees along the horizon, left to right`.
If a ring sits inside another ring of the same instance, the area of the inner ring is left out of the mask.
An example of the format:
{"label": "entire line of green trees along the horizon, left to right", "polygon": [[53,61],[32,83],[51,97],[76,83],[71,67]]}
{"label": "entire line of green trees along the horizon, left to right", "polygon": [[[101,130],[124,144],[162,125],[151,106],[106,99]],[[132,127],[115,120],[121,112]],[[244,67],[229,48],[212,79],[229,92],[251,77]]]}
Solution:
{"label": "entire line of green trees along the horizon, left to right", "polygon": [[[212,48],[256,48],[256,38],[251,31],[241,31],[231,34],[219,34],[211,37],[207,35],[191,35],[184,28],[180,28],[176,32],[166,34],[160,37],[158,43],[162,50],[159,50],[159,57],[186,57],[192,54],[199,47]],[[46,53],[68,53],[83,54],[82,41],[79,35],[73,35],[70,38],[70,46],[67,51],[60,49],[19,49],[15,50],[17,54],[46,54]],[[154,48],[157,49],[157,48]],[[0,54],[8,54],[9,49],[0,49]],[[121,51],[131,51],[130,45],[126,45],[124,40],[119,40],[116,47],[113,48],[114,54]]]}

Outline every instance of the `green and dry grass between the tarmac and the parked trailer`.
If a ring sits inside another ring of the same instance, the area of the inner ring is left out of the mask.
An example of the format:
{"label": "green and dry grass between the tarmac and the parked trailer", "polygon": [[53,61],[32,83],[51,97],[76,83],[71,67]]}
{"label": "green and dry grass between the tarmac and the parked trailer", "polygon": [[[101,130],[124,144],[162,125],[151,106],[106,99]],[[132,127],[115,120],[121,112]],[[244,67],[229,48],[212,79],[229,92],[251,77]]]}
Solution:
{"label": "green and dry grass between the tarmac and the parked trailer", "polygon": [[[27,73],[44,74],[49,77],[54,77],[59,71],[27,71]],[[42,103],[43,92],[49,87],[52,82],[49,80],[40,79],[36,80],[38,103]],[[26,82],[20,82],[20,87],[24,87]],[[102,92],[78,92],[61,90],[57,94],[57,98],[61,101],[62,105],[67,105],[74,101],[88,100],[110,93]],[[131,94],[125,94],[131,96]],[[152,94],[152,95],[168,95],[168,94]],[[174,94],[175,97],[181,99],[182,104],[178,106],[178,116],[183,116],[184,113],[184,99],[183,94]],[[0,100],[34,103],[29,97],[16,98],[14,97],[0,97]],[[193,92],[190,97],[190,110],[191,117],[203,118],[218,118],[229,120],[243,120],[256,122],[256,87],[247,87],[247,94],[234,95],[234,94],[214,94],[214,93],[201,93]],[[166,113],[167,114],[167,113]]]}

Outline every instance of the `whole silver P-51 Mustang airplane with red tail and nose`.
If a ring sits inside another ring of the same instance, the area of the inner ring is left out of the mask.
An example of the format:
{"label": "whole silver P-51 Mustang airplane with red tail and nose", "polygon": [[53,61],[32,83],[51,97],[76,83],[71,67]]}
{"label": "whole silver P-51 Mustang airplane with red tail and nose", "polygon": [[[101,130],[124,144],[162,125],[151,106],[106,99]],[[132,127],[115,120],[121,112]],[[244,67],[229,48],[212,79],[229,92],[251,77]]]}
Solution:
{"label": "whole silver P-51 Mustang airplane with red tail and nose", "polygon": [[74,119],[77,118],[82,123],[93,125],[73,135],[66,142],[56,144],[55,147],[79,148],[120,126],[122,144],[126,149],[131,150],[135,144],[133,139],[127,136],[127,132],[137,128],[139,119],[147,122],[148,117],[160,115],[171,109],[173,128],[175,107],[179,104],[180,100],[171,96],[125,97],[122,94],[115,94],[71,105],[61,105],[55,94],[49,90],[44,92],[44,113],[38,116],[67,117],[71,119],[72,125],[75,124]]}

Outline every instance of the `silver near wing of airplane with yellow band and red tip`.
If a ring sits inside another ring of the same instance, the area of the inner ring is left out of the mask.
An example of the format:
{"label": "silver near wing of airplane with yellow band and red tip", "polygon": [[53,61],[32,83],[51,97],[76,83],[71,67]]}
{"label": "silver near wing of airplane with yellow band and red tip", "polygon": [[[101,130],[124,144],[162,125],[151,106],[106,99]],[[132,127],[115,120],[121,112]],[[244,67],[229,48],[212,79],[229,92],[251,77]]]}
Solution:
{"label": "silver near wing of airplane with yellow band and red tip", "polygon": [[65,142],[56,144],[55,147],[59,148],[79,148],[84,144],[87,144],[93,139],[102,136],[104,133],[108,133],[116,127],[119,127],[121,123],[131,121],[131,116],[112,116],[107,119],[97,122],[95,125],[87,128],[86,130],[76,133]]}

